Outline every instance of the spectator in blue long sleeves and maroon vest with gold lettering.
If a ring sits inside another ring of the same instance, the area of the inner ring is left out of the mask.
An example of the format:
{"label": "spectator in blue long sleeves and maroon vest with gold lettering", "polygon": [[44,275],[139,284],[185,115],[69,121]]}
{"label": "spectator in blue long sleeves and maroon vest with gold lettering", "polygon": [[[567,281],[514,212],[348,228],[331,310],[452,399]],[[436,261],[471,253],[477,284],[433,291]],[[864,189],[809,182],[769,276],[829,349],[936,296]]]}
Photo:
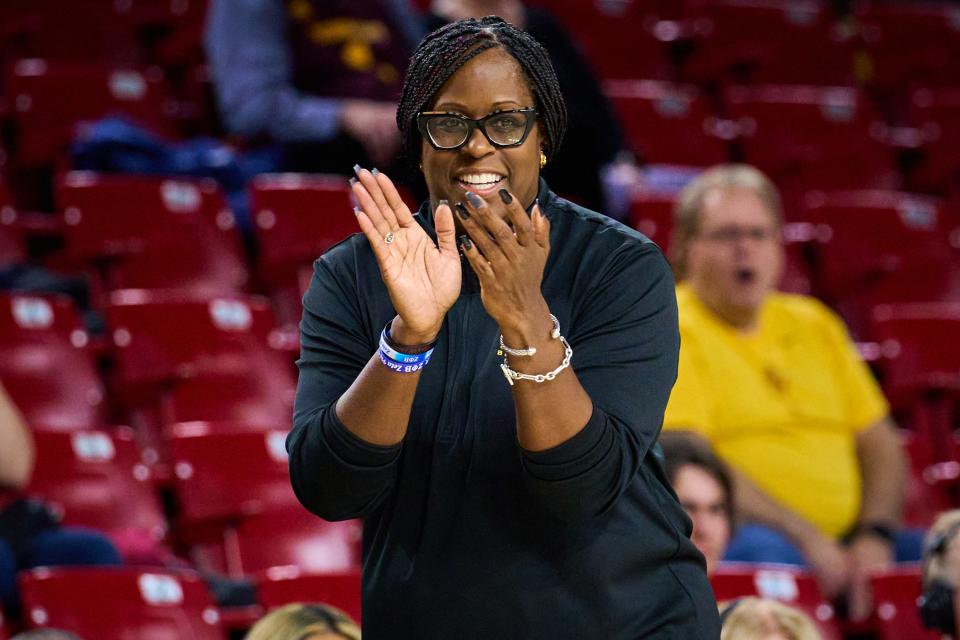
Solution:
{"label": "spectator in blue long sleeves and maroon vest with gold lettering", "polygon": [[291,170],[388,166],[420,36],[406,0],[214,0],[206,48],[224,123],[284,144]]}

